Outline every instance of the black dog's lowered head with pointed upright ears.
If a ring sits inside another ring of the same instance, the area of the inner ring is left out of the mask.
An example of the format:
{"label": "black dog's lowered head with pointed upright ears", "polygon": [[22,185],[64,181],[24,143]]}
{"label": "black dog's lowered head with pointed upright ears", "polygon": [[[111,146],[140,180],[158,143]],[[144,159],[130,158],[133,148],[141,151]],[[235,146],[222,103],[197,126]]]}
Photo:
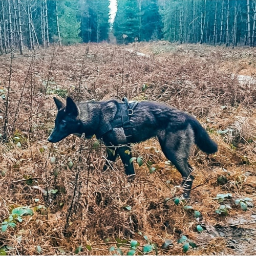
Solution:
{"label": "black dog's lowered head with pointed upright ears", "polygon": [[70,134],[78,133],[80,121],[78,119],[79,109],[73,99],[68,97],[66,105],[55,97],[53,97],[53,99],[57,106],[58,113],[55,119],[54,129],[48,137],[48,141],[56,143]]}

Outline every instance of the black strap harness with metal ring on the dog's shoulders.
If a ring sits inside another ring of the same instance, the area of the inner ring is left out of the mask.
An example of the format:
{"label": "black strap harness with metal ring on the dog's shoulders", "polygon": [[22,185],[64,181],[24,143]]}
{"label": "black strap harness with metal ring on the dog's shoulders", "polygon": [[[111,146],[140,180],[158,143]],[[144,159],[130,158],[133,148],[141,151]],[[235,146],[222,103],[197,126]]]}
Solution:
{"label": "black strap harness with metal ring on the dog's shoulders", "polygon": [[126,97],[122,98],[122,101],[118,103],[119,108],[112,121],[104,123],[100,127],[99,137],[102,137],[105,133],[112,131],[114,128],[123,128],[124,134],[127,137],[132,136],[132,127],[130,117],[133,115],[133,111],[137,106],[138,101],[128,101]]}

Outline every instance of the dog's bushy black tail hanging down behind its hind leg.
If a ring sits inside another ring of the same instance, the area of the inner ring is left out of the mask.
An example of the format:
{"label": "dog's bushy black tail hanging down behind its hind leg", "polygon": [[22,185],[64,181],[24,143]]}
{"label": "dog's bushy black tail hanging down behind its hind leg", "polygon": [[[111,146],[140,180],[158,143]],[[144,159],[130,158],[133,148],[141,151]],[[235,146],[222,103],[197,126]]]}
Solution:
{"label": "dog's bushy black tail hanging down behind its hind leg", "polygon": [[190,117],[190,124],[195,133],[195,143],[200,150],[207,154],[216,153],[218,151],[217,143],[210,138],[200,122],[196,118]]}

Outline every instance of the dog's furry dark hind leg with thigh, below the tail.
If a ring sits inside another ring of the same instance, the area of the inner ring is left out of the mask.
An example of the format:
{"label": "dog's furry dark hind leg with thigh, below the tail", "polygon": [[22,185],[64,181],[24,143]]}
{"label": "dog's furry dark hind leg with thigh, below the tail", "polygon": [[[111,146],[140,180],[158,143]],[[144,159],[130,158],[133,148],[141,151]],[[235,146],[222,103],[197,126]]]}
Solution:
{"label": "dog's furry dark hind leg with thigh, below the tail", "polygon": [[178,169],[183,178],[184,198],[189,198],[194,176],[191,174],[192,167],[187,159],[190,147],[194,143],[194,134],[189,129],[177,131],[175,133],[160,134],[158,136],[162,151],[166,158],[170,160]]}

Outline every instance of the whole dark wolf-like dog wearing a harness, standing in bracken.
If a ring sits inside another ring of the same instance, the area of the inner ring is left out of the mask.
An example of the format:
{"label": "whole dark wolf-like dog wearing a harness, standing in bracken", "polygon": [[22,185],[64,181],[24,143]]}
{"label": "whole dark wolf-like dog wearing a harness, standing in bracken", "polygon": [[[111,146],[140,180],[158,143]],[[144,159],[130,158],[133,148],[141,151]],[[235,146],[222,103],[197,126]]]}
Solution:
{"label": "whole dark wolf-like dog wearing a harness, standing in bracken", "polygon": [[54,101],[58,113],[48,141],[59,142],[70,134],[81,136],[84,133],[88,138],[96,135],[115,152],[108,154],[106,165],[110,164],[109,161],[115,161],[119,154],[126,175],[134,176],[134,167],[130,163],[132,156],[125,151],[129,150],[131,143],[156,136],[164,155],[183,177],[184,198],[189,198],[194,180],[191,166],[187,162],[191,146],[195,143],[207,154],[218,150],[217,144],[210,139],[195,117],[164,104],[153,101],[130,104],[127,99],[126,102],[110,100],[76,104],[70,97],[66,104],[55,97]]}

